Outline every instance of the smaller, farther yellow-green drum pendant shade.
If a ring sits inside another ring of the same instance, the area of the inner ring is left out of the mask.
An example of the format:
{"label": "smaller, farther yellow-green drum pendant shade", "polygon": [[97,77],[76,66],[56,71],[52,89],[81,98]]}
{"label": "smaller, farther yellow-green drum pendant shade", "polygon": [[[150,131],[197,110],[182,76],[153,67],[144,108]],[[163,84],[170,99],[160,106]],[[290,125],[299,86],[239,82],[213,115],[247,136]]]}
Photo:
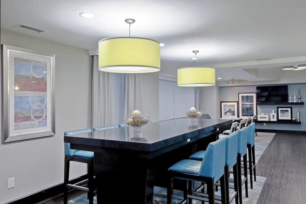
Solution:
{"label": "smaller, farther yellow-green drum pendant shade", "polygon": [[187,67],[177,69],[177,86],[204,87],[215,85],[215,69],[211,67]]}

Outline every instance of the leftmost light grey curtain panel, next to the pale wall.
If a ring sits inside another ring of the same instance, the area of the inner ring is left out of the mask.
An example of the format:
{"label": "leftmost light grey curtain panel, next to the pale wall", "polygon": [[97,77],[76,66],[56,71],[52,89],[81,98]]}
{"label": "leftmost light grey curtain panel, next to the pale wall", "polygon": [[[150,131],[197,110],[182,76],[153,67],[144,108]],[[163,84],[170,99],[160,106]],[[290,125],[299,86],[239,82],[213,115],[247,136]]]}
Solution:
{"label": "leftmost light grey curtain panel, next to the pale wall", "polygon": [[98,69],[98,55],[93,55],[92,63],[92,127],[112,125],[111,80],[109,72]]}

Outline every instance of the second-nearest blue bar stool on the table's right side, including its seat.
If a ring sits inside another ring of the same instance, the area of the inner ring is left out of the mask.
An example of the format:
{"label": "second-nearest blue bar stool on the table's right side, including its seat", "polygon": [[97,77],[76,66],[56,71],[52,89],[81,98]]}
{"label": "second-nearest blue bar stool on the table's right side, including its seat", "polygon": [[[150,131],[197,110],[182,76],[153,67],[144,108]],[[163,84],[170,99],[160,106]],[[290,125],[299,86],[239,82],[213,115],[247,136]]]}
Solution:
{"label": "second-nearest blue bar stool on the table's right side, including its seat", "polygon": [[[226,135],[226,149],[225,149],[225,191],[226,191],[226,203],[231,203],[235,198],[235,203],[238,203],[238,171],[237,171],[237,148],[238,148],[238,132],[233,132],[230,135]],[[206,151],[198,151],[192,154],[189,159],[202,160]],[[234,192],[230,195],[229,186],[229,171],[233,168],[234,176]],[[217,184],[219,185],[219,184]]]}

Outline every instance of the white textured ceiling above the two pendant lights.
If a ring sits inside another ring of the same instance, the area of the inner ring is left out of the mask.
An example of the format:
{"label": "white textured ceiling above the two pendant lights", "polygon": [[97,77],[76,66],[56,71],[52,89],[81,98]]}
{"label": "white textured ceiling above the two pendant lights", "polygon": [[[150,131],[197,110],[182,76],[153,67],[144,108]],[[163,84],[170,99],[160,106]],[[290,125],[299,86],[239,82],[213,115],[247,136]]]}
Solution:
{"label": "white textured ceiling above the two pendant lights", "polygon": [[282,70],[306,64],[305,11],[305,0],[1,0],[1,28],[91,50],[101,39],[129,36],[124,20],[133,18],[131,37],[166,44],[160,76],[195,66],[190,58],[199,50],[196,66],[216,68],[218,81],[268,81],[306,78],[306,70]]}

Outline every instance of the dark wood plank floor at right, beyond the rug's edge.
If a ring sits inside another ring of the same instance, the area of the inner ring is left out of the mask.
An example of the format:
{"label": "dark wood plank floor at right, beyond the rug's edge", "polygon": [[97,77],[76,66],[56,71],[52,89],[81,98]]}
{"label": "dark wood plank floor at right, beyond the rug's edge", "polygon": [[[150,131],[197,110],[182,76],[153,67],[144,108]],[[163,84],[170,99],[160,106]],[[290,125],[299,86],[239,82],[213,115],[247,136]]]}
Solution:
{"label": "dark wood plank floor at right, beyond the rug's edge", "polygon": [[256,175],[266,177],[257,204],[306,204],[306,135],[277,133]]}

